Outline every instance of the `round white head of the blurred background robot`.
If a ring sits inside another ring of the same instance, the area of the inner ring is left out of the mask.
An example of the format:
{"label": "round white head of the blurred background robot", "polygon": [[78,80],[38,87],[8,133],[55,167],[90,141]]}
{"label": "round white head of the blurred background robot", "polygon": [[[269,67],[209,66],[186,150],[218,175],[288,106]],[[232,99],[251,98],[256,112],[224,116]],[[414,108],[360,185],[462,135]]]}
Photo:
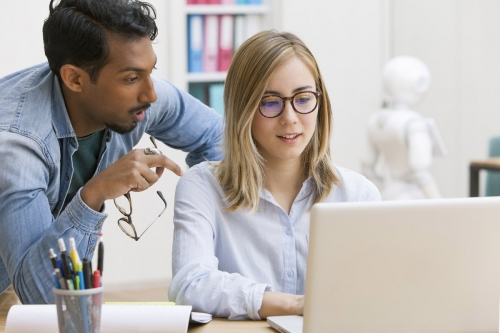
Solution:
{"label": "round white head of the blurred background robot", "polygon": [[429,88],[431,74],[420,59],[398,56],[385,65],[382,82],[392,108],[410,108]]}

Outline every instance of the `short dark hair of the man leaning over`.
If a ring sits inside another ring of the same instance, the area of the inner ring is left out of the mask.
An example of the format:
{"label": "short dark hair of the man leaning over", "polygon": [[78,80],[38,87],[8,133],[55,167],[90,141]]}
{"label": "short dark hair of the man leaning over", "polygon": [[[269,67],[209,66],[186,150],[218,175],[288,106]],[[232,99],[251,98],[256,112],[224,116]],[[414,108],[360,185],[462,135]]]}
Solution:
{"label": "short dark hair of the man leaning over", "polygon": [[84,69],[92,83],[106,65],[109,33],[125,39],[157,34],[156,11],[147,3],[134,0],[61,0],[54,7],[50,1],[49,17],[43,24],[45,55],[52,72],[61,78],[65,64]]}

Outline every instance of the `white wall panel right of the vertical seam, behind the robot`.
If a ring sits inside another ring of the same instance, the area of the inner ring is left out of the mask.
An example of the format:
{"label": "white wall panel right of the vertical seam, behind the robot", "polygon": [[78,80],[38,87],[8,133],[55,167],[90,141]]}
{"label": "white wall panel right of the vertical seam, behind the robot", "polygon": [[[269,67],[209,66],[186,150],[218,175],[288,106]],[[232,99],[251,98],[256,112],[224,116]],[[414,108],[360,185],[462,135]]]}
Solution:
{"label": "white wall panel right of the vertical seam, behind the robot", "polygon": [[416,108],[436,118],[450,150],[432,167],[445,197],[468,196],[468,165],[500,135],[500,2],[392,0],[394,55],[422,59],[432,74]]}

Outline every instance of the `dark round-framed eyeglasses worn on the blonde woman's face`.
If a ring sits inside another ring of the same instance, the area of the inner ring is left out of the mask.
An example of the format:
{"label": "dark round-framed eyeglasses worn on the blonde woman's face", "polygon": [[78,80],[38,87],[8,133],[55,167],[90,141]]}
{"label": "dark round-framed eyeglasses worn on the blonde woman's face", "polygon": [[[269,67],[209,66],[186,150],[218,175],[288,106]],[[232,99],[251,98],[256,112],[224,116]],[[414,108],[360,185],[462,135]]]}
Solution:
{"label": "dark round-framed eyeglasses worn on the blonde woman's face", "polygon": [[266,118],[275,118],[285,109],[287,100],[292,104],[297,113],[306,114],[313,112],[319,104],[320,92],[301,91],[291,97],[278,95],[267,95],[262,97],[259,103],[259,112]]}

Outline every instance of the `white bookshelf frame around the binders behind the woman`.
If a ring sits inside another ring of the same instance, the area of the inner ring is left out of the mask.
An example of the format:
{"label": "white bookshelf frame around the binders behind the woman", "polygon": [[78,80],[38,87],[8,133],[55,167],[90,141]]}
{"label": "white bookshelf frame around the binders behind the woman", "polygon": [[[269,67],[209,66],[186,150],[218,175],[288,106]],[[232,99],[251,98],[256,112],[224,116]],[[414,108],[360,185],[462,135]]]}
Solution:
{"label": "white bookshelf frame around the binders behind the woman", "polygon": [[[200,86],[209,86],[211,84],[222,85],[226,78],[226,71],[189,71],[188,18],[191,15],[202,15],[204,19],[206,15],[232,15],[233,18],[250,15],[258,19],[258,30],[271,29],[275,28],[273,16],[271,15],[274,12],[273,6],[275,5],[275,1],[278,0],[262,0],[262,4],[252,5],[191,5],[187,4],[187,0],[168,1],[168,79],[177,87],[189,91],[195,97],[200,98],[195,92],[199,92]],[[236,21],[236,19],[234,20]],[[204,101],[207,104],[209,104],[208,96],[209,94],[207,93],[207,98]]]}

